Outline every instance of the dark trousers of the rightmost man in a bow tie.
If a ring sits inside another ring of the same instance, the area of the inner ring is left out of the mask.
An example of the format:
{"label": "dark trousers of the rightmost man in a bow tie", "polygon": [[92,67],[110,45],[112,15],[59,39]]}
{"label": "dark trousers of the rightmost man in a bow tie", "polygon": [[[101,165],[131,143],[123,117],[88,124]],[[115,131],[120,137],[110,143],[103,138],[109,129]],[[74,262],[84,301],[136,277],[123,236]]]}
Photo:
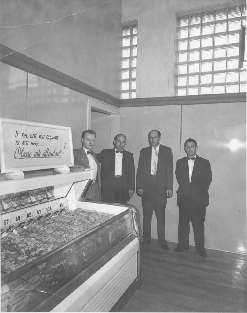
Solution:
{"label": "dark trousers of the rightmost man in a bow tie", "polygon": [[204,221],[206,208],[198,208],[190,205],[190,208],[179,207],[179,244],[181,249],[189,249],[189,222],[192,223],[194,232],[195,248],[198,252],[205,251],[204,248]]}

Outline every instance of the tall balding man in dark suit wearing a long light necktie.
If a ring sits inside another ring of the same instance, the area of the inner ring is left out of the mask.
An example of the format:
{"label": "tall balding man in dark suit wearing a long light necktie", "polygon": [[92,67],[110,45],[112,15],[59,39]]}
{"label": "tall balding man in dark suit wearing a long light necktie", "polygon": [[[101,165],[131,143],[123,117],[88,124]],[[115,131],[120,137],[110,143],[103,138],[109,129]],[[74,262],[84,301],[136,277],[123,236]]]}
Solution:
{"label": "tall balding man in dark suit wearing a long light necktie", "polygon": [[167,198],[173,195],[173,158],[169,147],[159,144],[160,132],[149,132],[150,147],[140,152],[136,184],[142,197],[144,212],[143,243],[151,241],[151,222],[153,211],[157,217],[158,242],[167,250],[165,239],[165,208]]}

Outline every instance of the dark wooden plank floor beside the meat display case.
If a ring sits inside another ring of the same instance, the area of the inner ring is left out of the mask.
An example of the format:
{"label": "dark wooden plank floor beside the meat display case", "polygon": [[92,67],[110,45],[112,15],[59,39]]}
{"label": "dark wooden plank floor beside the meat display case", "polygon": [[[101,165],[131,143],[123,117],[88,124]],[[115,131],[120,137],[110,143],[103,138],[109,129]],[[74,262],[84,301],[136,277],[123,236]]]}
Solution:
{"label": "dark wooden plank floor beside the meat display case", "polygon": [[142,286],[121,312],[246,312],[246,256],[206,249],[202,258],[190,246],[142,249]]}

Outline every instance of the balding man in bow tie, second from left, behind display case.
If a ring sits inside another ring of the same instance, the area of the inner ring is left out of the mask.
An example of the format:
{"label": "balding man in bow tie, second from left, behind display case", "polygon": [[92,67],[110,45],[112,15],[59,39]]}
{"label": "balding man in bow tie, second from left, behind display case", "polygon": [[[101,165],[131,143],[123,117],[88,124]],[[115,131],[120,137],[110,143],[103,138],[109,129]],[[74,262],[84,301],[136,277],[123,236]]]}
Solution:
{"label": "balding man in bow tie, second from left, behind display case", "polygon": [[135,189],[135,166],[133,154],[123,150],[126,136],[114,138],[113,149],[103,149],[96,154],[101,163],[102,201],[126,204]]}

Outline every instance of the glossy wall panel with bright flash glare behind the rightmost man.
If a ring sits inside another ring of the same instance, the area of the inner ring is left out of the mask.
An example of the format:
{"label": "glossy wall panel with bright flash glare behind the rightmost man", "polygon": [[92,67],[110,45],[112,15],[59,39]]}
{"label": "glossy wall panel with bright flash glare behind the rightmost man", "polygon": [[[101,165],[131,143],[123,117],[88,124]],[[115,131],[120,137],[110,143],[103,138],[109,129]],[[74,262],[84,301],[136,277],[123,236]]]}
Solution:
{"label": "glossy wall panel with bright flash glare behind the rightmost man", "polygon": [[[194,138],[197,154],[209,160],[213,173],[205,246],[246,253],[245,119],[245,103],[183,106],[182,142]],[[192,228],[189,242],[194,243]]]}

